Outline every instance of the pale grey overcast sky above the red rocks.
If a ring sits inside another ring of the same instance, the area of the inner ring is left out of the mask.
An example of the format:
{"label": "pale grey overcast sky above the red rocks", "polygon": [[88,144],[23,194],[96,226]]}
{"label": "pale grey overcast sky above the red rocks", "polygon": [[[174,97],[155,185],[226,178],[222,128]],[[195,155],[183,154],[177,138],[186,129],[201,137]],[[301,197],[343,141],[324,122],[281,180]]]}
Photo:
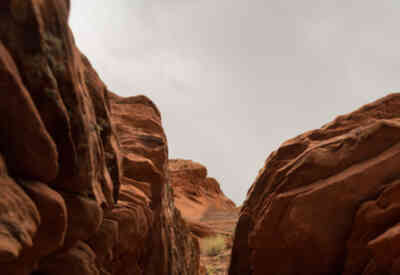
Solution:
{"label": "pale grey overcast sky above the red rocks", "polygon": [[398,0],[72,0],[70,24],[238,204],[279,144],[400,86]]}

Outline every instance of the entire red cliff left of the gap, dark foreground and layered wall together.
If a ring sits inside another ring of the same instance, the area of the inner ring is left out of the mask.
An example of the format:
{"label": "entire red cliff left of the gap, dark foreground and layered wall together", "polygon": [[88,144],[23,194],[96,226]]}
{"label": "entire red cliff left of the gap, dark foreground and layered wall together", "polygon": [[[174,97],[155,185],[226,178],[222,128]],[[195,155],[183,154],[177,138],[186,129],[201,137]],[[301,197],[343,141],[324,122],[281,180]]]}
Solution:
{"label": "entire red cliff left of the gap, dark foreground and layered wall together", "polygon": [[0,3],[0,273],[197,274],[159,112],[109,94],[69,7]]}

